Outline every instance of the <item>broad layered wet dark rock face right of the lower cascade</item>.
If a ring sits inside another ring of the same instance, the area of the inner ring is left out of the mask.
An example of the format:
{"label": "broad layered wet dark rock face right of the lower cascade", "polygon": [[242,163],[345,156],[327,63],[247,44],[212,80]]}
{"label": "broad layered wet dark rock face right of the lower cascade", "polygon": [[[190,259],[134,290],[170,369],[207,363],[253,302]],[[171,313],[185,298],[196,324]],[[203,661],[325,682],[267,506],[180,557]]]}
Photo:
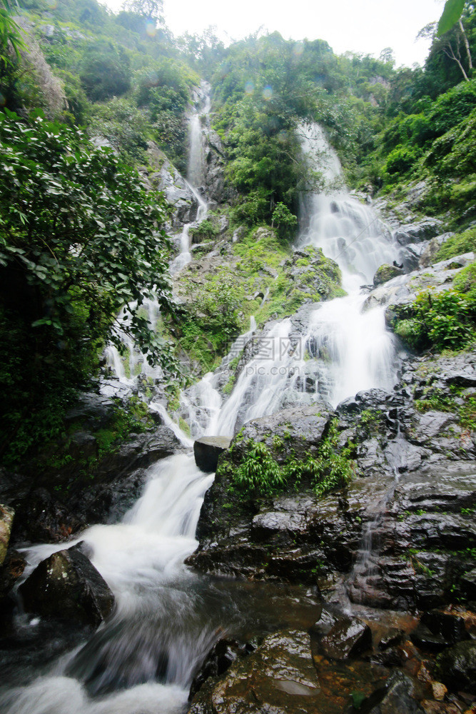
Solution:
{"label": "broad layered wet dark rock face right of the lower cascade", "polygon": [[474,398],[474,353],[407,359],[393,393],[374,389],[338,406],[340,446],[355,444],[354,477],[322,498],[303,483],[248,501],[229,487],[250,439],[280,463],[291,450],[302,459],[317,451],[332,411],[321,404],[246,424],[221,456],[188,563],[318,583],[336,600],[345,587],[355,602],[383,608],[464,597],[476,568],[476,436],[466,421]]}

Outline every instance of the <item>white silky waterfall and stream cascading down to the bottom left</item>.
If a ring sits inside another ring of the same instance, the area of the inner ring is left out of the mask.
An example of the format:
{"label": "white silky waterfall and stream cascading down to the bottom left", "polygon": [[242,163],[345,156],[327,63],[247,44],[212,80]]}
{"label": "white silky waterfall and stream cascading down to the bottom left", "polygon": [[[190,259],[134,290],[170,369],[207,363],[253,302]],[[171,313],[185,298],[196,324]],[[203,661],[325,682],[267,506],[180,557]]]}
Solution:
{"label": "white silky waterfall and stream cascading down to the bottom left", "polygon": [[[189,170],[195,186],[200,186],[203,178],[196,146],[198,139],[201,142],[199,122],[196,113],[191,120]],[[317,152],[321,162],[325,156],[329,181],[338,176],[338,159],[318,127],[303,130],[303,148],[309,154]],[[336,405],[362,389],[393,386],[395,349],[385,331],[383,310],[362,311],[366,293],[360,286],[372,281],[380,264],[397,258],[397,246],[370,208],[343,189],[309,196],[303,213],[306,228],[298,245],[322,248],[326,256],[337,261],[348,295],[313,306],[305,321],[295,323],[293,318],[286,318],[271,323],[260,334],[256,349],[251,351],[253,356],[226,401],[211,373],[183,393],[181,403],[192,436],[232,436],[245,421],[286,406],[312,403],[322,397]],[[188,253],[188,247],[184,237],[182,255]],[[146,308],[151,321],[157,320],[153,305]],[[252,319],[235,352],[256,336]],[[133,357],[130,347],[128,374],[118,355],[114,351],[109,354],[125,388],[137,379],[137,371],[146,369],[145,363],[134,362],[138,358]],[[313,387],[309,389],[306,380],[311,376]],[[191,446],[160,403],[151,403],[151,408],[161,413],[184,448]],[[243,630],[253,610],[250,593],[243,602],[237,594],[245,585],[233,590],[238,586],[195,575],[183,565],[184,558],[196,548],[198,516],[212,481],[213,474],[198,470],[190,450],[178,453],[148,470],[143,496],[121,523],[93,526],[81,534],[93,564],[113,590],[116,610],[96,633],[56,658],[53,665],[45,665],[36,675],[18,675],[15,688],[0,695],[2,712],[172,714],[184,710],[193,674],[212,643],[224,630]],[[63,547],[29,548],[29,572]],[[261,598],[266,614],[258,618],[268,623],[263,627],[270,626],[273,619],[269,590],[266,592]],[[259,610],[260,605],[254,607]],[[26,615],[19,625],[38,626],[39,618]]]}

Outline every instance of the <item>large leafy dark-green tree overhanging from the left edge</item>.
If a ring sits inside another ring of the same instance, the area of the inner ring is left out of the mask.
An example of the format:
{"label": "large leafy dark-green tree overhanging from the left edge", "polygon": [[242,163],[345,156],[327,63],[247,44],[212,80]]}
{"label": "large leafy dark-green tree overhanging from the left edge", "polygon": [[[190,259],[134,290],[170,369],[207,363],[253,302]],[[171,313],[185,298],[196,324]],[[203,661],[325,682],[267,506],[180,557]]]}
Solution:
{"label": "large leafy dark-green tree overhanging from the left edge", "polygon": [[[109,338],[120,346],[126,331],[151,363],[167,363],[166,343],[140,313],[154,285],[170,306],[166,206],[111,151],[43,116],[26,124],[2,114],[0,156],[1,343],[9,346],[0,451],[19,453],[44,428],[61,428]],[[119,326],[116,314],[129,303]],[[51,427],[35,429],[40,415]]]}

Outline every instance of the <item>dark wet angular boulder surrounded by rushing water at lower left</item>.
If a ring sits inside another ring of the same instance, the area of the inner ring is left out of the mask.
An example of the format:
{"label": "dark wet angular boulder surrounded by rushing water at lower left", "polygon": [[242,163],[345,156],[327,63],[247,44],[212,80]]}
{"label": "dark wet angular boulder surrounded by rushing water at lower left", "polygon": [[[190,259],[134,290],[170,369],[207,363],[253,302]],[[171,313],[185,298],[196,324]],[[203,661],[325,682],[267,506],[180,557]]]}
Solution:
{"label": "dark wet angular boulder surrounded by rushing water at lower left", "polygon": [[59,550],[35,568],[20,586],[27,612],[98,627],[113,609],[106,581],[80,545]]}

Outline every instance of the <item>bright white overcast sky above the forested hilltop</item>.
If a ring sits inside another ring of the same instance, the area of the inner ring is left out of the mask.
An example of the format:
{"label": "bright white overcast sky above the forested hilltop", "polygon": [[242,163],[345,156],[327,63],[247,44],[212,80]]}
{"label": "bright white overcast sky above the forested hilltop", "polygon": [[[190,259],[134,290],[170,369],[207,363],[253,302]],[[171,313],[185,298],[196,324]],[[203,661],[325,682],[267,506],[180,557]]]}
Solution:
{"label": "bright white overcast sky above the forested hilltop", "polygon": [[[105,0],[113,10],[123,0]],[[429,43],[415,41],[418,31],[439,19],[444,0],[164,0],[166,24],[173,34],[200,34],[216,26],[223,40],[241,39],[264,26],[285,39],[327,40],[336,54],[378,56],[384,47],[397,64],[425,61]],[[226,43],[228,44],[228,42]]]}

